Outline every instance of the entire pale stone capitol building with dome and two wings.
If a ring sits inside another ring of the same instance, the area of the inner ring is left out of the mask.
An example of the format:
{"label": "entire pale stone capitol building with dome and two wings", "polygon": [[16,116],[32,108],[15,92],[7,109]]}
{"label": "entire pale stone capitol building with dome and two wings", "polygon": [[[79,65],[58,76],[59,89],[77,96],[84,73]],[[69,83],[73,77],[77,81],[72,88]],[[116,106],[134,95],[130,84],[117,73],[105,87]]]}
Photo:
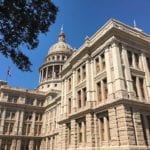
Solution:
{"label": "entire pale stone capitol building with dome and two wings", "polygon": [[150,35],[110,19],[78,50],[63,30],[29,90],[0,81],[0,150],[149,150]]}

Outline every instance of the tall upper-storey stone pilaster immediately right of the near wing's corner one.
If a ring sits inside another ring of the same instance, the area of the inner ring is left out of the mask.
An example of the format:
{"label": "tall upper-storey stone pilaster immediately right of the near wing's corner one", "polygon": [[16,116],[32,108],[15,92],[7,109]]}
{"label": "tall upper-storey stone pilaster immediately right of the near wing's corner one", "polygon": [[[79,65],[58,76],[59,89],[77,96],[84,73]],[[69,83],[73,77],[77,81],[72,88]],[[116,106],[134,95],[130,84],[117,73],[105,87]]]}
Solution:
{"label": "tall upper-storey stone pilaster immediately right of the near wing's corner one", "polygon": [[130,65],[129,65],[127,50],[125,46],[122,46],[122,54],[123,54],[124,75],[125,75],[125,82],[127,83],[128,96],[129,98],[134,98],[135,93],[133,90]]}

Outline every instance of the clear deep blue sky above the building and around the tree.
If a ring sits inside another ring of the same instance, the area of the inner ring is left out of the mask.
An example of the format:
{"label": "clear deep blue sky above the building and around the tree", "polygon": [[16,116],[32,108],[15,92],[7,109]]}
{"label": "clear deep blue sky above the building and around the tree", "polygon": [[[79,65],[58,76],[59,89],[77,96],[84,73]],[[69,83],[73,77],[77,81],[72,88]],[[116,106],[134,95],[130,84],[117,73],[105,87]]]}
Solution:
{"label": "clear deep blue sky above the building and around the tree", "polygon": [[67,42],[79,48],[86,36],[93,35],[107,20],[114,18],[133,26],[133,20],[147,34],[150,34],[150,0],[53,0],[59,7],[55,24],[50,31],[39,36],[39,46],[33,51],[25,50],[32,61],[32,72],[21,72],[0,54],[0,80],[6,80],[8,66],[12,76],[8,83],[23,88],[38,86],[38,68],[44,62],[49,47],[57,41],[61,25],[64,26]]}

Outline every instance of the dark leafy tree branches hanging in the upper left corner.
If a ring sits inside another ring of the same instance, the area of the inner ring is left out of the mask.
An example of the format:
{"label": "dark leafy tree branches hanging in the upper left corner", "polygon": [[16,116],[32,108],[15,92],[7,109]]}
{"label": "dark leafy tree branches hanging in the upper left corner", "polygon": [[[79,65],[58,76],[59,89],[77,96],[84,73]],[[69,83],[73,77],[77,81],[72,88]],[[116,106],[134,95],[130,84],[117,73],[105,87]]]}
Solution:
{"label": "dark leafy tree branches hanging in the upper left corner", "polygon": [[21,47],[36,48],[39,33],[48,31],[57,11],[51,0],[0,0],[0,52],[30,71],[32,64]]}

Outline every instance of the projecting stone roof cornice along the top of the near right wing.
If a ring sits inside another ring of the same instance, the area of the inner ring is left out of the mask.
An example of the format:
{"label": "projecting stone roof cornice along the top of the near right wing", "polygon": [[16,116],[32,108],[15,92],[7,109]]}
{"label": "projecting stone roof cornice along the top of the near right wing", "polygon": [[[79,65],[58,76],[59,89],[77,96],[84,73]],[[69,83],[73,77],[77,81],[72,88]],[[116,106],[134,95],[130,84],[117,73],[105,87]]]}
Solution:
{"label": "projecting stone roof cornice along the top of the near right wing", "polygon": [[139,30],[138,28],[131,27],[118,20],[109,19],[95,34],[86,39],[85,42],[75,53],[73,53],[71,58],[67,60],[66,63],[64,64],[63,70],[67,68],[73,60],[79,58],[78,56],[83,51],[89,50],[92,46],[94,46],[96,43],[99,43],[102,40],[105,41],[108,38],[111,38],[111,36],[118,36],[118,35],[119,36],[127,35],[128,38],[131,39],[134,38],[137,41],[144,41],[144,43],[147,43],[148,46],[150,46],[150,35],[144,33],[142,30]]}

